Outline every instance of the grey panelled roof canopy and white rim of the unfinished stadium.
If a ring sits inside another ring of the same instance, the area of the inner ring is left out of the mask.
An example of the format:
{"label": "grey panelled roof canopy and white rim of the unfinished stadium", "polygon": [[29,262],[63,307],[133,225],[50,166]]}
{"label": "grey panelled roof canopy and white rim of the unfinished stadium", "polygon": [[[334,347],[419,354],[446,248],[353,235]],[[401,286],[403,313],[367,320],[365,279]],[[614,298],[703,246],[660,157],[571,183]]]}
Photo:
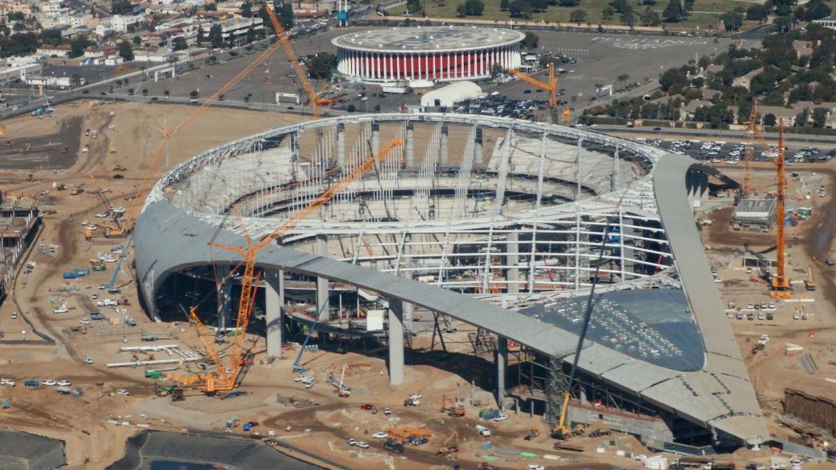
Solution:
{"label": "grey panelled roof canopy and white rim of the unfinished stadium", "polygon": [[[619,215],[632,211],[634,214],[643,214],[643,217],[656,217],[664,228],[666,243],[670,245],[674,263],[667,268],[662,267],[649,277],[601,289],[594,313],[600,331],[585,341],[579,367],[598,381],[711,430],[719,441],[742,444],[768,436],[746,366],[726,319],[716,284],[711,278],[711,269],[692,215],[692,200],[707,191],[709,177],[718,178],[730,185],[737,183],[711,166],[690,158],[589,130],[473,115],[354,115],[287,125],[206,151],[176,167],[158,181],[136,224],[136,270],[145,305],[150,313],[155,314],[158,290],[172,273],[212,263],[232,265],[241,261],[234,253],[210,247],[211,241],[237,246],[245,244],[239,229],[224,225],[222,219],[225,217],[179,207],[166,197],[166,188],[186,180],[192,171],[201,166],[240,156],[241,149],[251,149],[257,143],[278,135],[325,125],[371,121],[443,121],[513,129],[517,133],[544,135],[544,139],[546,135],[575,138],[599,146],[614,147],[616,155],[619,150],[630,151],[635,160],[644,161],[650,171],[628,186],[596,197],[581,197],[574,202],[557,204],[541,211],[553,213],[554,217],[565,215],[573,218],[578,217],[576,214],[580,212],[612,213],[608,211]],[[580,187],[578,191],[580,194]],[[519,223],[504,220],[505,217],[504,214],[492,215],[489,221],[468,219],[462,223],[477,224],[497,220],[507,224]],[[252,236],[263,235],[277,222],[273,219],[264,227],[255,228],[256,232]],[[255,220],[252,223],[256,225]],[[345,223],[306,223],[306,227],[294,231],[323,232],[331,228],[335,231],[350,228]],[[416,222],[410,223],[414,225]],[[502,223],[496,223],[497,227],[502,227]],[[395,222],[381,222],[378,225],[387,224],[397,225]],[[427,221],[426,224],[432,226],[432,222]],[[567,312],[578,308],[577,299],[584,298],[587,290],[583,285],[576,284],[579,288],[571,294],[570,299],[565,296],[549,299],[550,294],[520,294],[517,300],[506,297],[500,303],[498,297],[492,299],[489,294],[458,294],[402,275],[380,272],[279,245],[263,249],[258,255],[257,265],[267,270],[284,270],[359,286],[388,299],[401,300],[450,315],[564,361],[573,360],[573,349],[578,340],[571,325],[573,320]],[[630,294],[630,289],[641,289],[639,292],[645,296],[644,304],[650,304],[652,308],[646,308],[642,302],[631,298],[633,294]],[[670,291],[664,292],[665,289]],[[536,299],[541,304],[527,305],[530,299]],[[520,305],[523,309],[514,311],[502,308],[499,304]],[[564,312],[560,312],[561,309]],[[665,314],[665,309],[670,309],[670,314]],[[622,323],[612,323],[610,319],[615,318],[614,315]],[[659,321],[660,318],[665,321]],[[665,322],[681,323],[685,329],[665,330]],[[618,333],[617,329],[627,329],[625,331],[630,335],[646,334],[645,340],[616,341],[621,343],[619,345],[611,341],[618,335],[609,334],[606,329],[613,329],[615,333]],[[659,342],[660,338],[664,341]],[[680,353],[672,353],[676,350]]]}

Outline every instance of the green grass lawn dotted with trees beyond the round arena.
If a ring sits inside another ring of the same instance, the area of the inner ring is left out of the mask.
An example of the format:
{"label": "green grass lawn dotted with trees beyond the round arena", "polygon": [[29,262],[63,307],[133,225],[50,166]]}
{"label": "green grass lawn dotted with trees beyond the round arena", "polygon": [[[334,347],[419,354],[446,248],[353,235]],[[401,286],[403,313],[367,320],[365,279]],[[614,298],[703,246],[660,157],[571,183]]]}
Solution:
{"label": "green grass lawn dotted with trees beyond the round arena", "polygon": [[[463,1],[463,0],[461,0]],[[456,18],[456,6],[460,3],[460,0],[441,0],[441,5],[439,5],[436,0],[426,0],[425,1],[425,9],[426,14],[429,18]],[[609,7],[610,0],[582,0],[581,3],[577,7],[560,7],[558,5],[552,5],[548,7],[543,13],[534,13],[532,18],[528,21],[534,22],[545,22],[545,23],[569,23],[569,15],[573,12],[573,10],[581,9],[587,13],[587,21],[586,23],[590,24],[620,24],[619,21],[619,14],[616,13],[614,18],[604,19],[602,17],[602,13],[604,9]],[[696,28],[700,27],[702,29],[710,29],[716,28],[718,24],[718,16],[722,13],[727,11],[733,10],[737,7],[742,8],[749,8],[754,3],[751,2],[742,2],[739,0],[696,0],[694,3],[694,11],[699,13],[691,13],[691,16],[686,18],[684,23],[663,23],[665,28],[668,29],[676,29],[676,28]],[[665,0],[657,0],[655,5],[651,5],[650,8],[655,10],[661,16],[662,11],[667,6],[667,2]],[[644,10],[646,7],[643,6],[636,6],[636,11],[640,12]],[[393,8],[389,8],[388,12],[390,15],[402,15],[405,11],[405,5],[399,5]],[[498,0],[487,0],[485,1],[485,10],[482,12],[482,16],[479,17],[467,17],[472,19],[482,19],[482,20],[495,20],[495,21],[502,21],[506,22],[510,18],[509,13],[502,12],[499,10],[499,1]],[[637,23],[638,25],[639,23]]]}

